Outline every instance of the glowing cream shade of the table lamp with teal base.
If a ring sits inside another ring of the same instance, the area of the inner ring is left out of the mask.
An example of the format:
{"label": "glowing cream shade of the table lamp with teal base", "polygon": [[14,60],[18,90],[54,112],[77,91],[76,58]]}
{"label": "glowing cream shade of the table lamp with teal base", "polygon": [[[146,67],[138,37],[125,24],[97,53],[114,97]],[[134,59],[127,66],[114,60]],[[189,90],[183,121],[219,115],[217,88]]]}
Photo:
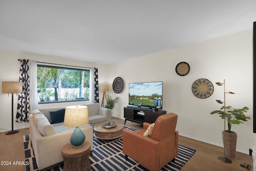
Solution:
{"label": "glowing cream shade of the table lamp with teal base", "polygon": [[68,106],[65,109],[64,126],[80,127],[88,124],[88,108],[84,105]]}

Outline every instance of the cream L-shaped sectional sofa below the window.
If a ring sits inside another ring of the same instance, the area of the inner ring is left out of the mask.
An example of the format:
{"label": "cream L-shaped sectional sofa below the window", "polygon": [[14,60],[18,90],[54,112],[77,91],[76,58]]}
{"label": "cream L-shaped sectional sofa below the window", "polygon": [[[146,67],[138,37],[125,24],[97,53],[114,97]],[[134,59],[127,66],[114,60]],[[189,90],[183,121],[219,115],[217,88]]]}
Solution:
{"label": "cream L-shaped sectional sofa below the window", "polygon": [[[83,104],[88,107],[89,124],[80,127],[86,141],[93,149],[93,127],[99,123],[109,122],[111,110],[100,107],[99,103]],[[65,107],[35,109],[29,115],[29,129],[38,169],[46,169],[63,161],[62,147],[70,142],[74,128],[66,127],[63,122],[52,123],[52,114]],[[51,115],[50,115],[51,113]],[[52,124],[51,124],[52,123]]]}

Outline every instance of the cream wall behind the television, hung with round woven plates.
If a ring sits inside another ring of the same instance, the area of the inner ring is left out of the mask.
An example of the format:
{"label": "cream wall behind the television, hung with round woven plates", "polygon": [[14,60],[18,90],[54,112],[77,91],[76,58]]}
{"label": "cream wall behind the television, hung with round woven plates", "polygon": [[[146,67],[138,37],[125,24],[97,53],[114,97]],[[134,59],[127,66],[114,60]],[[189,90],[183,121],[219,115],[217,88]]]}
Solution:
{"label": "cream wall behind the television, hung with round woven plates", "polygon": [[[175,72],[176,65],[182,61],[190,65],[186,76],[178,76]],[[179,133],[222,145],[224,120],[218,115],[210,115],[211,111],[222,107],[215,100],[224,101],[223,86],[215,82],[225,79],[226,91],[236,93],[226,95],[226,105],[248,106],[250,110],[246,114],[252,118],[252,30],[111,64],[108,76],[111,87],[114,78],[124,80],[121,93],[114,93],[112,88],[109,92],[113,97],[121,97],[113,111],[116,117],[123,117],[123,107],[128,105],[129,83],[163,81],[163,109],[178,114]],[[192,93],[192,84],[200,78],[214,84],[214,93],[206,99]],[[238,134],[238,151],[248,153],[248,148],[255,146],[252,124],[251,119],[243,125],[232,126]]]}

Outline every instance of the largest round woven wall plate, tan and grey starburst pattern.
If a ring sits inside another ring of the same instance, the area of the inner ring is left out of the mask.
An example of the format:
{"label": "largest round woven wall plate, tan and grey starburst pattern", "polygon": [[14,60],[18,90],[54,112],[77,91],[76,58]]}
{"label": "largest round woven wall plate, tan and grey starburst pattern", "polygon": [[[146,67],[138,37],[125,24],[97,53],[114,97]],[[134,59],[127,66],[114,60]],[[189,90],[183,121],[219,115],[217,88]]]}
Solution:
{"label": "largest round woven wall plate, tan and grey starburst pattern", "polygon": [[205,99],[207,97],[210,97],[213,91],[214,91],[214,87],[212,83],[209,80],[204,78],[196,80],[192,85],[193,94],[200,99]]}

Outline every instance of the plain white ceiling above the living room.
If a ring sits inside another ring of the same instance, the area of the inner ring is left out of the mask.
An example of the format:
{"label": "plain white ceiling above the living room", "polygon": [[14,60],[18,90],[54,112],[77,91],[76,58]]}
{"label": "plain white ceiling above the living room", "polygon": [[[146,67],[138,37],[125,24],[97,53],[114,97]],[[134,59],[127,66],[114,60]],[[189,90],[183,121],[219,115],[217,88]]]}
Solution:
{"label": "plain white ceiling above the living room", "polygon": [[0,48],[112,64],[254,21],[256,0],[0,0]]}

